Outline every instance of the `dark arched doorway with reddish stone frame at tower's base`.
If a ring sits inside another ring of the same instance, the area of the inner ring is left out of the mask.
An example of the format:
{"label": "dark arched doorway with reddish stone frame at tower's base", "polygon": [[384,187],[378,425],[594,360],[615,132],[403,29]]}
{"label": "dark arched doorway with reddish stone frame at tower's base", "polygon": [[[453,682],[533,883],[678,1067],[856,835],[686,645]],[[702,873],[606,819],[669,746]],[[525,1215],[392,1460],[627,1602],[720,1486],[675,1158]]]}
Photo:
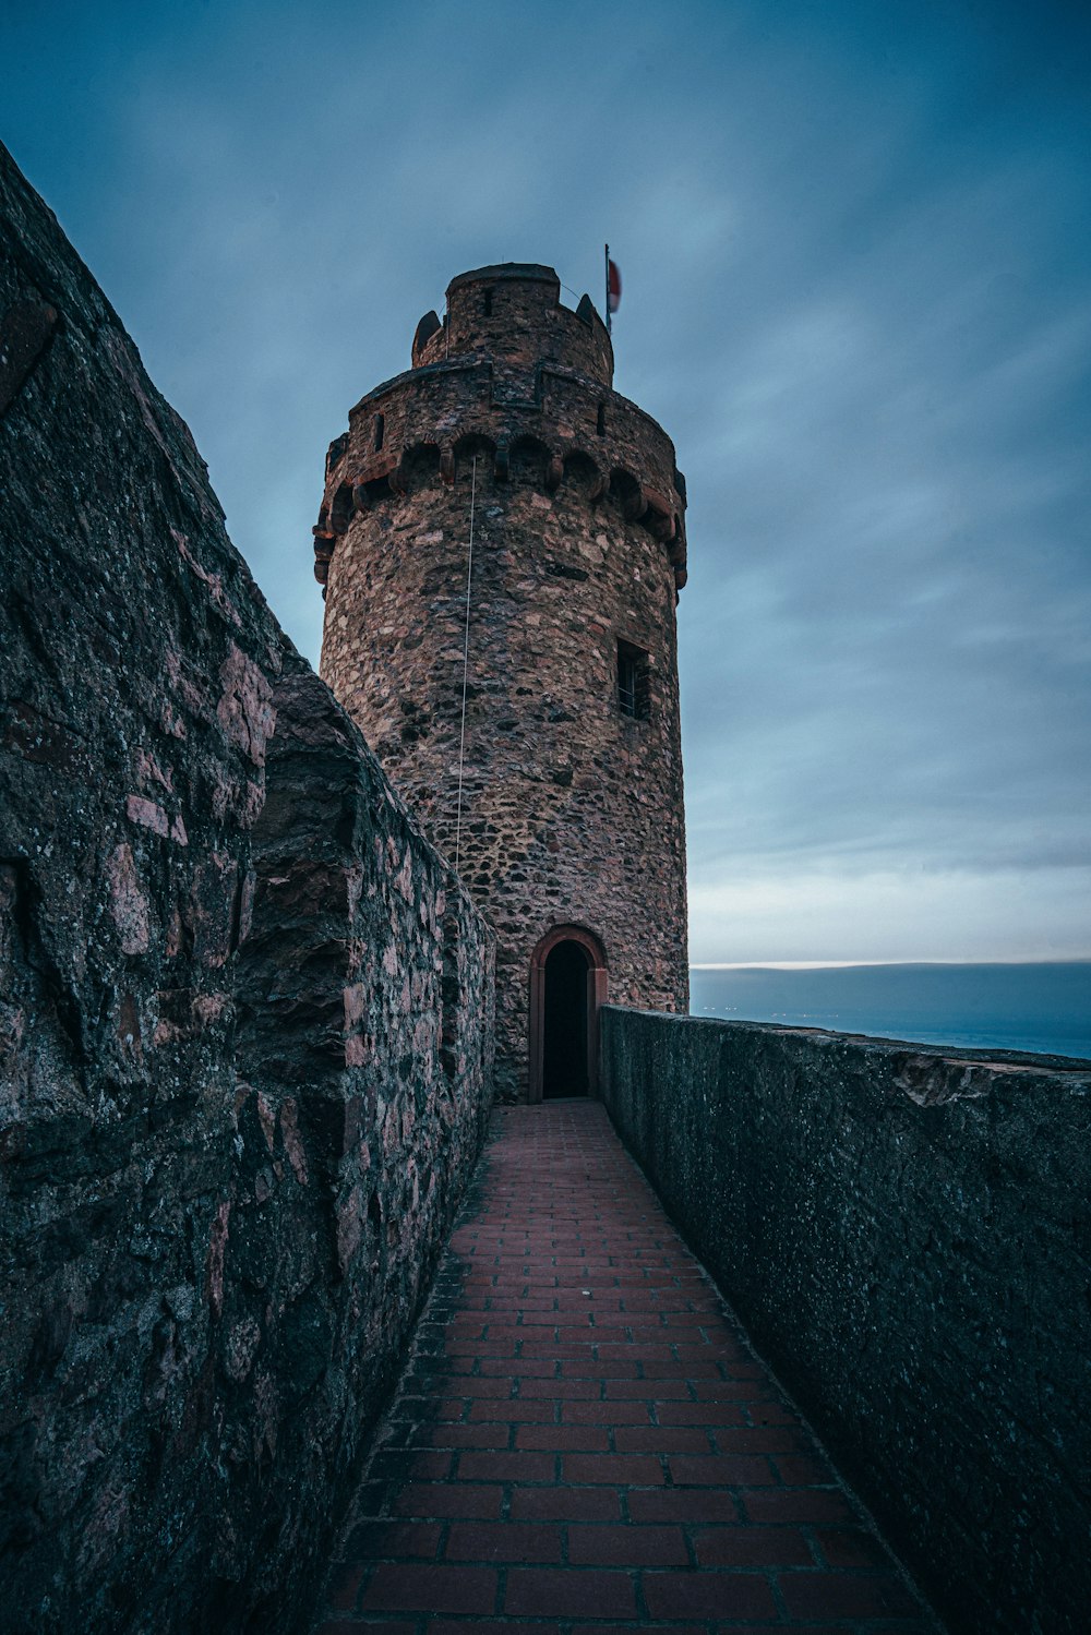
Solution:
{"label": "dark arched doorway with reddish stone frame at tower's base", "polygon": [[554,925],[530,958],[530,1100],[594,1095],[599,1006],[607,997],[602,943],[582,925]]}

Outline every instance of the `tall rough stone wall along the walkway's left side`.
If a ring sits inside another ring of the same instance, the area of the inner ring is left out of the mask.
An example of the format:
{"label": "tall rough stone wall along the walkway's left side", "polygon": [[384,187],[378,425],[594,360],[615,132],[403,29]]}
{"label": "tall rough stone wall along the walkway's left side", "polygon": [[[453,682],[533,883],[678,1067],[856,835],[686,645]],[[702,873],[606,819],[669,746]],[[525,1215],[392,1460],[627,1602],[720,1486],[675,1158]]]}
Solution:
{"label": "tall rough stone wall along the walkway's left side", "polygon": [[0,149],[5,1628],[294,1625],[478,1151],[491,942]]}

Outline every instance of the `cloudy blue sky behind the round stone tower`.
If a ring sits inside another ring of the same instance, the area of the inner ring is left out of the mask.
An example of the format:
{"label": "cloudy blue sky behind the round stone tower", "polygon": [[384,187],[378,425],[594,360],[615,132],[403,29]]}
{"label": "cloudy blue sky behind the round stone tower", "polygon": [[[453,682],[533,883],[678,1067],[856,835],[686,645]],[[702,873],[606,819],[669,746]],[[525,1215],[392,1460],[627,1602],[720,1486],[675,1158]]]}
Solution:
{"label": "cloudy blue sky behind the round stone tower", "polygon": [[0,134],[314,661],[348,407],[455,273],[599,301],[608,239],[689,477],[694,958],[1078,958],[1089,46],[1048,0],[0,0]]}

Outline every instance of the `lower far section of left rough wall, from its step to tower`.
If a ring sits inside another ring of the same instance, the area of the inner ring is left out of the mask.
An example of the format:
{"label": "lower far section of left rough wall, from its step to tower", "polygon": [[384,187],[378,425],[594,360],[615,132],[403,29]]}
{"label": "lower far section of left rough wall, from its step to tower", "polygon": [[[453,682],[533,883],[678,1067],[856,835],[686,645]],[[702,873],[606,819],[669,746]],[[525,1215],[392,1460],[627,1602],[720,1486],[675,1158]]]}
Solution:
{"label": "lower far section of left rough wall, from its step to tower", "polygon": [[316,675],[281,679],[273,705],[236,986],[222,1628],[255,1607],[262,1628],[293,1628],[478,1156],[492,1071],[492,942],[465,889]]}

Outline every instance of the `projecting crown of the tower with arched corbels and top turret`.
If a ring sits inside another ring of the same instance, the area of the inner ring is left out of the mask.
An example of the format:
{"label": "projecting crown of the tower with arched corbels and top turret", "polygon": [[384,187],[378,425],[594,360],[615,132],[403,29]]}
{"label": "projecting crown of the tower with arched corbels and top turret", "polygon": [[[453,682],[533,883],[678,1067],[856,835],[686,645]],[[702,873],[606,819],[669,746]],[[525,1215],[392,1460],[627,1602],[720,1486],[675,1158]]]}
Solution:
{"label": "projecting crown of the tower with arched corbels and top turret", "polygon": [[550,268],[465,273],[443,320],[427,314],[414,368],[384,381],[330,443],[314,528],[314,574],[353,517],[429,486],[453,486],[468,461],[497,487],[554,494],[569,486],[592,507],[617,507],[667,554],[685,584],[685,481],[666,432],[610,386],[610,337],[587,296],[561,306]]}

